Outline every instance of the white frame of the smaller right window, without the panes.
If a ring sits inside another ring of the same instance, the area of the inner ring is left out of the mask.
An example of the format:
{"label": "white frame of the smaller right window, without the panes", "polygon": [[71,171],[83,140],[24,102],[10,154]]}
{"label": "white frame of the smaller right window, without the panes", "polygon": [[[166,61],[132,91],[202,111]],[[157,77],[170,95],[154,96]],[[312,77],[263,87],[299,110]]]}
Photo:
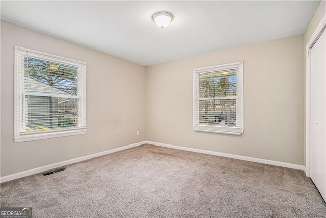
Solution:
{"label": "white frame of the smaller right window, without the panes", "polygon": [[[237,114],[238,126],[203,125],[199,124],[199,75],[221,70],[237,69]],[[235,62],[216,66],[193,69],[193,129],[195,131],[241,135],[244,130],[244,105],[243,105],[243,62]]]}

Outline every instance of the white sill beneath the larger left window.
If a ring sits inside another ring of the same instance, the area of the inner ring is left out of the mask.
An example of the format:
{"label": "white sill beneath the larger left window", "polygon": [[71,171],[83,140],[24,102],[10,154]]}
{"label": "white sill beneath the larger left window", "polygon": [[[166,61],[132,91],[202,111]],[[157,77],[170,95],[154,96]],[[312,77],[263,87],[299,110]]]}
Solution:
{"label": "white sill beneath the larger left window", "polygon": [[46,133],[37,133],[37,134],[30,134],[30,135],[20,135],[15,137],[14,142],[25,142],[25,141],[35,141],[35,140],[42,140],[48,138],[59,138],[65,136],[72,136],[72,135],[81,135],[86,134],[85,129],[77,129],[77,130],[65,130],[60,132],[46,132]]}

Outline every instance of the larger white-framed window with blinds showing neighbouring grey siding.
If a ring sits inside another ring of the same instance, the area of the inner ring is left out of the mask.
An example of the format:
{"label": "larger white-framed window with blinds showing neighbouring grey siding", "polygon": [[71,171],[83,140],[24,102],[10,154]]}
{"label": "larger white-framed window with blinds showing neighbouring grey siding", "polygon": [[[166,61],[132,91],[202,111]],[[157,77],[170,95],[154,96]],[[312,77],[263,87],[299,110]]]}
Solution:
{"label": "larger white-framed window with blinds showing neighbouring grey siding", "polygon": [[15,142],[86,133],[86,63],[15,46]]}

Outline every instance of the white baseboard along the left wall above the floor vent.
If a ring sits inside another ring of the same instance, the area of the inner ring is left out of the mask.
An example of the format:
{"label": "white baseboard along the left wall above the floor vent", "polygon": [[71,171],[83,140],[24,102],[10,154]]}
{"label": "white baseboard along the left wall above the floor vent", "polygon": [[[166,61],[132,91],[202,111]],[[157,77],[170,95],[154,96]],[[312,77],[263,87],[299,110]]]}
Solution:
{"label": "white baseboard along the left wall above the floor vent", "polygon": [[14,179],[19,179],[21,177],[30,176],[30,175],[33,175],[33,174],[38,174],[38,173],[41,173],[41,172],[44,172],[44,171],[48,171],[49,169],[69,165],[69,164],[80,162],[80,161],[83,161],[83,160],[88,160],[88,159],[91,159],[91,158],[94,158],[94,157],[99,157],[99,156],[103,156],[103,155],[106,155],[106,154],[111,154],[111,153],[114,153],[114,152],[122,151],[122,150],[125,150],[125,149],[130,149],[132,147],[141,146],[142,144],[145,144],[145,143],[146,143],[145,141],[141,141],[141,142],[134,143],[134,144],[129,144],[127,146],[123,146],[123,147],[120,147],[120,148],[111,149],[111,150],[107,150],[107,151],[103,151],[103,152],[99,152],[99,153],[95,153],[95,154],[91,154],[91,155],[86,155],[86,156],[83,156],[83,157],[77,157],[77,158],[74,158],[74,159],[65,160],[65,161],[62,161],[62,162],[45,165],[45,166],[37,167],[37,168],[34,168],[34,169],[29,169],[28,171],[22,171],[22,172],[19,172],[19,173],[10,174],[10,175],[7,175],[7,176],[0,177],[0,183],[7,182],[7,181],[10,181],[10,180],[14,180]]}

